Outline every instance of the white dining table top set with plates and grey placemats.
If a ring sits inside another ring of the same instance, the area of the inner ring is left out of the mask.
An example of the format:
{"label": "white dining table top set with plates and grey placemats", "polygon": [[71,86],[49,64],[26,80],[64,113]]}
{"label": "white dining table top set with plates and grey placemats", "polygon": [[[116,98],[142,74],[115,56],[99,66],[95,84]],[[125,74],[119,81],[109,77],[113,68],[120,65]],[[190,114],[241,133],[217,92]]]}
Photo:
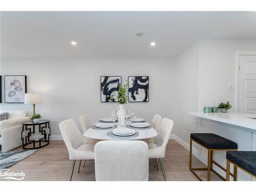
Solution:
{"label": "white dining table top set with plates and grey placemats", "polygon": [[[148,126],[143,128],[132,126],[130,126],[129,128],[129,125],[127,124],[125,124],[124,126],[120,126],[118,122],[115,122],[113,127],[110,127],[108,129],[100,129],[96,126],[97,123],[103,122],[102,120],[99,120],[99,122],[93,124],[86,132],[83,133],[83,136],[86,138],[98,140],[142,140],[157,136],[157,132],[154,127],[152,127],[152,125],[146,120],[144,120],[144,123],[148,123]],[[116,129],[133,129],[136,131],[136,133],[131,136],[118,136],[113,134],[113,131]]]}

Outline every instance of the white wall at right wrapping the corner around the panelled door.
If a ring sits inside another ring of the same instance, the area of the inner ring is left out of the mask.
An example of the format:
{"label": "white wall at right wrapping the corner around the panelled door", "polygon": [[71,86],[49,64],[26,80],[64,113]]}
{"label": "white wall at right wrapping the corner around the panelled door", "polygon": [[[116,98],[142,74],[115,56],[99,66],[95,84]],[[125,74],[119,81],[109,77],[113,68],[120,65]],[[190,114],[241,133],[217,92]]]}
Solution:
{"label": "white wall at right wrapping the corner around the panelled door", "polygon": [[228,90],[228,84],[236,79],[236,51],[255,50],[255,39],[205,39],[174,58],[176,136],[189,143],[190,133],[197,132],[197,119],[188,111],[203,111],[204,106],[227,100],[234,108],[235,90]]}

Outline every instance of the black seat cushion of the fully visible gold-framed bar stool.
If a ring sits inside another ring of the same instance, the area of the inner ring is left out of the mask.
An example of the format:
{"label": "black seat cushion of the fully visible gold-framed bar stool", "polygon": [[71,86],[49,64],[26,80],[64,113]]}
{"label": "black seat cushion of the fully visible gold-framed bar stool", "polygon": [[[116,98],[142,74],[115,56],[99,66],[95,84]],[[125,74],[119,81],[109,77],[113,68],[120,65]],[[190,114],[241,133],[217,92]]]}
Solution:
{"label": "black seat cushion of the fully visible gold-framed bar stool", "polygon": [[210,149],[237,149],[237,143],[212,133],[191,133],[190,138]]}

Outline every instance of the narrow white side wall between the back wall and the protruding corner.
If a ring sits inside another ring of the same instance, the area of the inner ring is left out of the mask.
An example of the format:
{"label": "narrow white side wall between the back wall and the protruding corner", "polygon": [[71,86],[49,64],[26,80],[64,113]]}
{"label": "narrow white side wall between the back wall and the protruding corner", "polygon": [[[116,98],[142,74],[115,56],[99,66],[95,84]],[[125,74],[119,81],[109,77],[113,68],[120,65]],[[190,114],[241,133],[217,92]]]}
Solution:
{"label": "narrow white side wall between the back wall and the protruding corner", "polygon": [[[188,47],[174,58],[175,71],[175,117],[174,134],[188,141],[191,117],[187,111],[198,111],[199,44]],[[197,120],[195,121],[197,123]]]}

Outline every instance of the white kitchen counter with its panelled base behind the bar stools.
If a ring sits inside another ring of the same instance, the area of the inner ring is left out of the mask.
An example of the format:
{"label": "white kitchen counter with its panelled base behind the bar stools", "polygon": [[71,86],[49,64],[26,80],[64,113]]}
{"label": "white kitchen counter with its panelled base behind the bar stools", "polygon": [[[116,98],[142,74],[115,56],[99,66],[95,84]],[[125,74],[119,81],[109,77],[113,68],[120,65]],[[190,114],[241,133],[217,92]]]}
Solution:
{"label": "white kitchen counter with its panelled base behind the bar stools", "polygon": [[[245,113],[202,113],[188,112],[191,133],[213,133],[238,144],[238,151],[256,151],[256,114]],[[196,122],[196,123],[195,123]],[[187,143],[189,146],[189,143]],[[207,164],[207,151],[194,144],[194,155]],[[214,160],[226,166],[226,151],[214,154]],[[214,165],[215,170],[226,177],[226,172]],[[255,181],[247,173],[238,169],[238,181]]]}

